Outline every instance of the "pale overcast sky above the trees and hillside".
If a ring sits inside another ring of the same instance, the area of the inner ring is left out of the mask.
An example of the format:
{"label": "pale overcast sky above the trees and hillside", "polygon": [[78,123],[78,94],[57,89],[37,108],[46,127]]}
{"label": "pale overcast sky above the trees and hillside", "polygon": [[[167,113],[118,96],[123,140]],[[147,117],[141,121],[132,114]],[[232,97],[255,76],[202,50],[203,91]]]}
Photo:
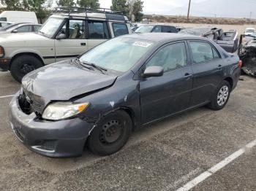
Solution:
{"label": "pale overcast sky above the trees and hillside", "polygon": [[[144,14],[187,15],[189,0],[143,0]],[[110,8],[111,0],[99,0]],[[256,18],[256,0],[191,0],[190,15],[200,17]]]}

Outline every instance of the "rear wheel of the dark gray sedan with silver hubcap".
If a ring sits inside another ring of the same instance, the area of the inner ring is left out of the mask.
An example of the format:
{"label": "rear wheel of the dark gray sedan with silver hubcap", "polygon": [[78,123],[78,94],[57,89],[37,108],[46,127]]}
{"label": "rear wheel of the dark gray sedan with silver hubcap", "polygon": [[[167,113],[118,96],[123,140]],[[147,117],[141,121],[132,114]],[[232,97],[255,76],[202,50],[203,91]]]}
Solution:
{"label": "rear wheel of the dark gray sedan with silver hubcap", "polygon": [[[226,92],[226,89],[225,87],[228,88],[227,90],[227,96],[225,94]],[[221,90],[225,90],[223,91],[223,94],[221,92]],[[220,110],[220,109],[223,109],[225,107],[225,105],[227,104],[227,101],[228,99],[230,98],[230,92],[231,92],[231,87],[230,87],[230,83],[227,82],[226,80],[222,81],[220,84],[219,84],[219,87],[217,88],[217,91],[214,93],[212,99],[211,99],[211,103],[208,104],[208,107],[210,109],[213,109],[213,110]],[[218,98],[218,95],[221,96],[222,98],[222,101],[221,98]],[[225,100],[225,101],[224,101]]]}

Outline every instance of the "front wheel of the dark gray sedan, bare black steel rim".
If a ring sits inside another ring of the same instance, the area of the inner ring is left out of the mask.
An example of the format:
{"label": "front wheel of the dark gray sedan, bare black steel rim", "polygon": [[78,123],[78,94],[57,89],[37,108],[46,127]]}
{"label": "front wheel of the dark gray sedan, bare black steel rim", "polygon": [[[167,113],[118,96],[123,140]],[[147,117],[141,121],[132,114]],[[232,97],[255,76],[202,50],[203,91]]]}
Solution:
{"label": "front wheel of the dark gray sedan, bare black steel rim", "polygon": [[[113,128],[116,129],[116,131],[112,131]],[[131,131],[132,120],[129,117],[129,114],[122,110],[118,110],[108,114],[100,120],[89,136],[87,142],[88,147],[94,154],[111,155],[124,147],[124,144],[126,144],[129,139]],[[121,133],[117,135],[113,132]],[[110,134],[111,136],[109,136]],[[110,140],[111,138],[112,140]]]}

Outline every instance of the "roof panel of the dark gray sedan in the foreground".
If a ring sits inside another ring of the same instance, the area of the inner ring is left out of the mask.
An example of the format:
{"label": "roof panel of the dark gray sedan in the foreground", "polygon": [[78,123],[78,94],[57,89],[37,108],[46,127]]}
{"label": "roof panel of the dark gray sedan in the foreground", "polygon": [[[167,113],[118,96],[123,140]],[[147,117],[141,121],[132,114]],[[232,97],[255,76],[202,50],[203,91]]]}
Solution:
{"label": "roof panel of the dark gray sedan in the foreground", "polygon": [[128,38],[134,38],[134,39],[144,39],[148,41],[154,41],[154,42],[171,42],[176,40],[206,40],[208,39],[200,36],[194,36],[189,34],[175,34],[175,33],[138,33],[138,34],[129,34],[126,35]]}

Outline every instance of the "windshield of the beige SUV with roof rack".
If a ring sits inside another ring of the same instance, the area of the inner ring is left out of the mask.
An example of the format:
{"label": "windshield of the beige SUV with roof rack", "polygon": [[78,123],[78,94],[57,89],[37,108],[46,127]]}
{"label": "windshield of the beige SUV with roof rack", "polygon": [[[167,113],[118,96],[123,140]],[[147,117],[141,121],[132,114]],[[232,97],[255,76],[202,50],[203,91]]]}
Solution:
{"label": "windshield of the beige SUV with roof rack", "polygon": [[49,17],[48,20],[45,21],[45,23],[42,25],[42,27],[38,31],[39,34],[52,37],[53,34],[55,34],[56,31],[58,30],[63,20],[64,19],[62,18]]}

